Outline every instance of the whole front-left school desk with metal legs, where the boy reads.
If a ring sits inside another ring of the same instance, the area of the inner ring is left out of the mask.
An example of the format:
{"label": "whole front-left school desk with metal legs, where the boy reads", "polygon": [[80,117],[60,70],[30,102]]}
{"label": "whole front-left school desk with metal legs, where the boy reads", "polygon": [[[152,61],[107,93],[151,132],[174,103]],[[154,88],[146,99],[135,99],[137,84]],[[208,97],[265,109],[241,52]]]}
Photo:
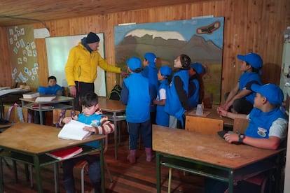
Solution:
{"label": "whole front-left school desk with metal legs, where the boy reads", "polygon": [[[58,138],[59,128],[33,123],[17,123],[0,134],[0,157],[12,159],[34,166],[38,192],[43,192],[41,185],[41,166],[54,164],[55,169],[55,192],[58,191],[58,159],[46,155],[48,152],[80,146],[83,152],[76,156],[100,152],[99,160],[101,164],[102,192],[104,192],[104,155],[102,143],[99,148],[91,148],[83,145],[90,141],[101,141],[106,136],[92,135],[83,141],[66,140]],[[0,160],[1,161],[1,160]],[[1,164],[2,162],[0,162]],[[1,164],[0,192],[4,192],[3,170]],[[16,171],[15,171],[16,172]],[[15,173],[16,174],[16,173]]]}

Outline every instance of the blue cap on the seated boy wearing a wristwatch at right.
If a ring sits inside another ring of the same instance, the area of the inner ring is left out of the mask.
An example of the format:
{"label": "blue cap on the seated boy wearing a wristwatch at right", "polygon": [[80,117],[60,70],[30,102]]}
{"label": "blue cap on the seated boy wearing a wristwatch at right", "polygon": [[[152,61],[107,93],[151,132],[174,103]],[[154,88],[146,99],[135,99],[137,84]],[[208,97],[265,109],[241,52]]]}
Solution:
{"label": "blue cap on the seated boy wearing a wristwatch at right", "polygon": [[281,105],[284,99],[284,94],[280,87],[274,84],[266,85],[251,85],[251,90],[260,93],[262,96],[266,97],[269,103],[272,105]]}

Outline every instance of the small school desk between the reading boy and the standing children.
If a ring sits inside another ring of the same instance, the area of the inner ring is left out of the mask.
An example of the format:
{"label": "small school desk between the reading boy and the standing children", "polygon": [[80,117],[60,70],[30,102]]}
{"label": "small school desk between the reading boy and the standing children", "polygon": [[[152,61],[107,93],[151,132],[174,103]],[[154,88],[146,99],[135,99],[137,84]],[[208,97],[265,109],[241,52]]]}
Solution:
{"label": "small school desk between the reading boy and the standing children", "polygon": [[120,136],[120,128],[117,128],[117,122],[126,120],[126,106],[124,106],[121,101],[99,97],[99,108],[102,110],[104,115],[108,116],[109,120],[113,122],[113,125],[115,127],[115,159],[118,159],[118,134]]}

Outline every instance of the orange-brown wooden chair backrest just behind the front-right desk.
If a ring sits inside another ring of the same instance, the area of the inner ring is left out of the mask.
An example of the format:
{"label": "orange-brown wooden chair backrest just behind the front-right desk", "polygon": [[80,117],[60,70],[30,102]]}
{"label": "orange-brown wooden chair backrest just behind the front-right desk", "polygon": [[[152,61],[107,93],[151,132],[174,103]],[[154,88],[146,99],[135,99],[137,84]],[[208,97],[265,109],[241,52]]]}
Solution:
{"label": "orange-brown wooden chair backrest just behind the front-right desk", "polygon": [[216,135],[217,131],[223,130],[223,120],[186,116],[185,129],[187,131]]}

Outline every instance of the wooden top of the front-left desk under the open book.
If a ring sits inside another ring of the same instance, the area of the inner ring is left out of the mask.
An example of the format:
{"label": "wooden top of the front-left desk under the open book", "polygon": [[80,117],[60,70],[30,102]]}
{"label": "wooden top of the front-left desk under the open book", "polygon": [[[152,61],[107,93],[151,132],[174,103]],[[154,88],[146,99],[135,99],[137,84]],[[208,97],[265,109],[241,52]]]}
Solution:
{"label": "wooden top of the front-left desk under the open book", "polygon": [[0,148],[11,148],[30,154],[42,154],[106,137],[92,135],[83,141],[76,141],[58,138],[59,132],[60,129],[56,127],[19,122],[0,134]]}

